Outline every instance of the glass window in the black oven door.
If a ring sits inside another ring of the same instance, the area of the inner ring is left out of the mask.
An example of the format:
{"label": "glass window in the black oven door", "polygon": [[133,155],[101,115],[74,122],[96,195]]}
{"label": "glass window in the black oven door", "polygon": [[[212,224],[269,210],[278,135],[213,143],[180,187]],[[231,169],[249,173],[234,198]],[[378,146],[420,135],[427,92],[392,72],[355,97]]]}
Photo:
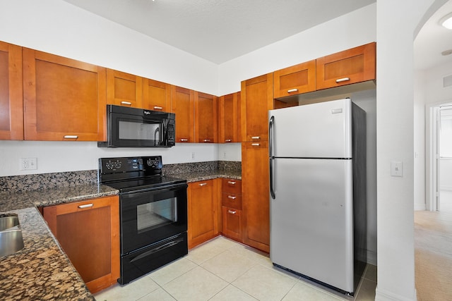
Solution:
{"label": "glass window in the black oven door", "polygon": [[177,221],[177,197],[138,205],[136,214],[138,233],[174,223]]}

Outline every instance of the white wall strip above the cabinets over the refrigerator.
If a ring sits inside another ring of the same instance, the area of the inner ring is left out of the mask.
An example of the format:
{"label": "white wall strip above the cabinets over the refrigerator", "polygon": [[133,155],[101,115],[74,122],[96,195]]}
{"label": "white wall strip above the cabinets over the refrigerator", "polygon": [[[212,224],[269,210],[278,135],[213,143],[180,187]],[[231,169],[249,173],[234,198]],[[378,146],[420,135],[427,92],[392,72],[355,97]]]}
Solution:
{"label": "white wall strip above the cabinets over the refrigerator", "polygon": [[[376,40],[376,5],[309,28],[220,65],[219,94],[240,90],[240,82]],[[363,22],[365,20],[365,22]]]}

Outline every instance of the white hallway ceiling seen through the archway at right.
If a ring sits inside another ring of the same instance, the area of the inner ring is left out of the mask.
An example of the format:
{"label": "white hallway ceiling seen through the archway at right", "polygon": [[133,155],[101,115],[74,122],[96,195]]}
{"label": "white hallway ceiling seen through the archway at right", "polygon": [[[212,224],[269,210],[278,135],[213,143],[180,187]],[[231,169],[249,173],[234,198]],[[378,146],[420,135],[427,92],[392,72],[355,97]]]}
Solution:
{"label": "white hallway ceiling seen through the archway at right", "polygon": [[442,51],[452,50],[452,30],[439,24],[439,19],[451,12],[452,0],[449,0],[427,20],[418,33],[414,43],[415,69],[426,70],[452,61],[452,54],[441,55]]}

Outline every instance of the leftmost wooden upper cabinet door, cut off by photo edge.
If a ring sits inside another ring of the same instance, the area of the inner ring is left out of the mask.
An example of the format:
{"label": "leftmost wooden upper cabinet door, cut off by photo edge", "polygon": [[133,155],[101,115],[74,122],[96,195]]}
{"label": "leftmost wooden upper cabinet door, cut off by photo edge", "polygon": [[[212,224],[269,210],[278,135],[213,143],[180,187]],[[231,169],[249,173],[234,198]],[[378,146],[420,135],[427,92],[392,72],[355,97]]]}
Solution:
{"label": "leftmost wooden upper cabinet door, cut off by photo edge", "polygon": [[0,140],[23,140],[22,47],[0,42]]}

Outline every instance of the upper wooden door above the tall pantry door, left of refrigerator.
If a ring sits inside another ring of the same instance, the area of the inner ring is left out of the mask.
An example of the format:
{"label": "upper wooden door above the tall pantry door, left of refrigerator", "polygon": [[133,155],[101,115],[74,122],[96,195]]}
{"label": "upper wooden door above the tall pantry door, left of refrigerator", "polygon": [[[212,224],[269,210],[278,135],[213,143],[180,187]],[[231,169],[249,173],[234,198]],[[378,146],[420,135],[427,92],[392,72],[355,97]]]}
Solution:
{"label": "upper wooden door above the tall pantry door, left of refrigerator", "polygon": [[273,109],[273,73],[242,82],[242,141],[268,140],[268,110]]}

